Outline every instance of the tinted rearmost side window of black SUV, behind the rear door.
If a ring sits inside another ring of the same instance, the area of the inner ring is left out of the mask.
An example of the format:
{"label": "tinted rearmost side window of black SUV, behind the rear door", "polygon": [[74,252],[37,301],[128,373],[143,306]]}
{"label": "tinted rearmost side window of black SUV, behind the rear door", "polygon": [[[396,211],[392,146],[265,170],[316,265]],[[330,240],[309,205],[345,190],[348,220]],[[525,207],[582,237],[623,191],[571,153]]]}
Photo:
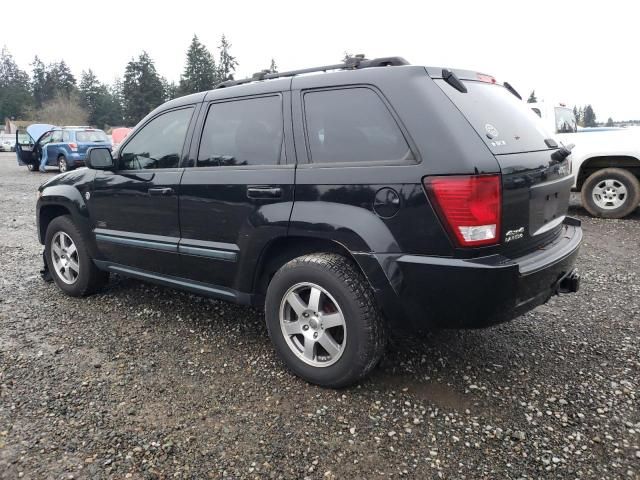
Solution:
{"label": "tinted rearmost side window of black SUV, behind the rear door", "polygon": [[304,107],[313,162],[413,158],[396,121],[373,90],[309,92]]}

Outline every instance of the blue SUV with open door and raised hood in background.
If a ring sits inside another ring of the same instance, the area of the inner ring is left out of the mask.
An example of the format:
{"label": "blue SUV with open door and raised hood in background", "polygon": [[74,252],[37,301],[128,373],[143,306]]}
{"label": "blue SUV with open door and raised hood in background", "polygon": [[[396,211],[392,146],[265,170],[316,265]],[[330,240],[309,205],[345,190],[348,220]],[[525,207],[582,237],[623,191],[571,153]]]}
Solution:
{"label": "blue SUV with open door and raised hood in background", "polygon": [[43,150],[47,151],[47,166],[57,166],[61,172],[84,166],[91,147],[111,148],[107,135],[85,126],[56,127],[36,123],[25,132],[16,133],[16,155],[19,165],[37,171]]}

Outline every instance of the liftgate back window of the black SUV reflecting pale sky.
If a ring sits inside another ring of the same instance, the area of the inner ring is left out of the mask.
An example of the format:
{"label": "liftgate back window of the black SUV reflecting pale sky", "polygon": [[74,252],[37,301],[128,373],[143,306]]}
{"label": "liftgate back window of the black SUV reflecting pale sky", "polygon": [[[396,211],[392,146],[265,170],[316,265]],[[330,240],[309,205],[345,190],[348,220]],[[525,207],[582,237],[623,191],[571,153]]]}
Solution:
{"label": "liftgate back window of the black SUV reflecting pale sky", "polygon": [[444,80],[436,80],[436,83],[494,154],[549,149],[544,141],[551,138],[551,134],[542,120],[506,88],[465,81],[468,91],[462,93]]}

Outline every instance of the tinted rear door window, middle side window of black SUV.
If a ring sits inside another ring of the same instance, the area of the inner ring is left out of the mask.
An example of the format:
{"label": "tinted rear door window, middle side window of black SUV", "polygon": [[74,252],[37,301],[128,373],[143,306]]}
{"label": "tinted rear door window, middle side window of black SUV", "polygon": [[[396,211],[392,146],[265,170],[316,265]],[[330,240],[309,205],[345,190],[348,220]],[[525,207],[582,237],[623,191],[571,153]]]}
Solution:
{"label": "tinted rear door window, middle side window of black SUV", "polygon": [[280,96],[215,103],[198,153],[200,166],[284,163]]}

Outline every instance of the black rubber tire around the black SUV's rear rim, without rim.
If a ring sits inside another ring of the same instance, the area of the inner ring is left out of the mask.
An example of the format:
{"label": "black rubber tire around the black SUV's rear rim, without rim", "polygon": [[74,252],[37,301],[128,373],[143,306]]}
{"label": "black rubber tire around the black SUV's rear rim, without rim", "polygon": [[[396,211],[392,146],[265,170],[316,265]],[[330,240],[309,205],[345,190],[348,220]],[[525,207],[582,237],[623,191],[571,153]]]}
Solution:
{"label": "black rubber tire around the black SUV's rear rim, without rim", "polygon": [[[280,328],[280,302],[284,294],[297,283],[315,283],[338,302],[347,325],[347,345],[340,359],[328,367],[313,367],[300,360],[287,344]],[[315,265],[297,265],[278,272],[269,284],[265,302],[265,314],[269,336],[279,356],[296,375],[323,386],[340,387],[351,383],[354,368],[362,363],[363,350],[367,348],[363,319],[357,299],[349,286],[339,278]]]}

